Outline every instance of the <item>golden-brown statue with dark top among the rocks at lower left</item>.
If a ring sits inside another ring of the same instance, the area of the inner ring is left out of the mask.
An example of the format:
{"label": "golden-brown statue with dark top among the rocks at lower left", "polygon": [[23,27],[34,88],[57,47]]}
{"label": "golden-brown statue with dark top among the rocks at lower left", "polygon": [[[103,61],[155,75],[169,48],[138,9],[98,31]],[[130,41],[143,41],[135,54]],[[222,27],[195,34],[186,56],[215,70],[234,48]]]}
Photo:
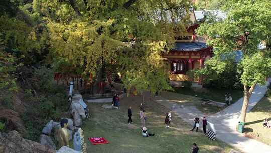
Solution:
{"label": "golden-brown statue with dark top among the rocks at lower left", "polygon": [[67,130],[68,122],[69,121],[67,119],[62,119],[60,121],[61,127],[58,129],[58,135],[57,135],[59,147],[62,147],[62,146],[69,147],[69,133]]}

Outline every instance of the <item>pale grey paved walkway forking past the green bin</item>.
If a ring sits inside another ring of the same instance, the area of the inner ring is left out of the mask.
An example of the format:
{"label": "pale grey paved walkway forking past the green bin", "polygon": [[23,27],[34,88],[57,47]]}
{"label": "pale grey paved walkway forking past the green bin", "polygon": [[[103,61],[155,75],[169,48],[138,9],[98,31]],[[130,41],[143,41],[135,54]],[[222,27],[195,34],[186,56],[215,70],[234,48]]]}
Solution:
{"label": "pale grey paved walkway forking past the green bin", "polygon": [[[250,111],[253,106],[264,96],[267,85],[270,83],[270,79],[265,86],[256,86],[251,98],[249,99],[249,105],[247,112]],[[193,120],[195,116],[203,117],[204,114],[194,106],[183,107],[182,105],[169,102],[169,100],[156,97],[155,101],[170,108],[172,111],[178,114],[184,121],[194,124]],[[242,108],[243,98],[240,98],[237,102],[230,105],[226,109],[211,116],[207,116],[207,120],[215,124],[217,139],[228,143],[245,153],[271,153],[271,146],[244,137],[242,134],[236,132],[236,124],[240,121],[240,113]]]}

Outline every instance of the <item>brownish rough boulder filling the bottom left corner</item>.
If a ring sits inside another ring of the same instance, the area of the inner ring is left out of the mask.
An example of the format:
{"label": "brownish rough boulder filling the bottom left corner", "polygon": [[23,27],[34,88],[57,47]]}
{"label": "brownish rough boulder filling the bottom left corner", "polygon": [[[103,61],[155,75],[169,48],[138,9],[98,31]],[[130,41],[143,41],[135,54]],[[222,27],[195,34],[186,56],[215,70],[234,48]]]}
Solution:
{"label": "brownish rough boulder filling the bottom left corner", "polygon": [[38,142],[24,139],[17,131],[10,131],[9,133],[0,133],[0,152],[55,153],[56,150]]}

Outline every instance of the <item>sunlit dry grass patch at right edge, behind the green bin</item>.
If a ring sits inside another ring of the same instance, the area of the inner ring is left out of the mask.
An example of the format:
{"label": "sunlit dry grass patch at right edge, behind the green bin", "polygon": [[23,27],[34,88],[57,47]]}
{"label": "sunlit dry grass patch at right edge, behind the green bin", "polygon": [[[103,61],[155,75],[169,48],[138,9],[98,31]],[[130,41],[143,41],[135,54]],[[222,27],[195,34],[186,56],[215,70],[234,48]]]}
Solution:
{"label": "sunlit dry grass patch at right edge, behind the green bin", "polygon": [[271,98],[263,97],[253,109],[246,114],[245,134],[265,144],[271,145],[271,129],[263,127],[263,120],[271,121]]}

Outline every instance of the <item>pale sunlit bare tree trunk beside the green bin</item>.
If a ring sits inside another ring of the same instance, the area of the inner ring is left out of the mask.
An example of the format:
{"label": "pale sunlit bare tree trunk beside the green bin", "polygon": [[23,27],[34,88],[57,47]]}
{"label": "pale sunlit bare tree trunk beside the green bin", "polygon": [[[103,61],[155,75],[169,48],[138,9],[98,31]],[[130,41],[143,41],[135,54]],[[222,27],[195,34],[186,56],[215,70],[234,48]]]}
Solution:
{"label": "pale sunlit bare tree trunk beside the green bin", "polygon": [[243,106],[241,110],[241,122],[245,123],[246,110],[249,103],[249,98],[255,88],[255,85],[251,86],[250,88],[244,85],[244,101],[243,101]]}

